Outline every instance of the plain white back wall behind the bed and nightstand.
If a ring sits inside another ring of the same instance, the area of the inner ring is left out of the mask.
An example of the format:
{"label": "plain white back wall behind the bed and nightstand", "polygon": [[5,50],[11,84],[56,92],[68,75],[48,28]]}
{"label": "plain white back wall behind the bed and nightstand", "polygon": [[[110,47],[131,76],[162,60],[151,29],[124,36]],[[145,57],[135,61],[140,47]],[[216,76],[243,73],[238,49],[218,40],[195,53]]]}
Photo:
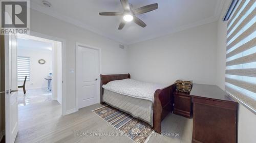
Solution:
{"label": "plain white back wall behind the bed and nightstand", "polygon": [[215,84],[217,22],[129,45],[133,79],[173,83],[177,79]]}

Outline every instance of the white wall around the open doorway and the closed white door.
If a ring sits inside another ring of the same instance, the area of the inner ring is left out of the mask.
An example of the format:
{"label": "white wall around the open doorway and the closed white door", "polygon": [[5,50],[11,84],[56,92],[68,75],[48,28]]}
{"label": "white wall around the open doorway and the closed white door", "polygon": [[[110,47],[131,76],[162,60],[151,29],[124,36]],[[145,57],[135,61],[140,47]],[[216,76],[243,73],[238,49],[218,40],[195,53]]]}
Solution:
{"label": "white wall around the open doorway and the closed white door", "polygon": [[119,43],[80,27],[58,20],[35,10],[30,11],[30,29],[33,32],[66,40],[67,47],[67,103],[66,111],[75,110],[75,46],[76,42],[102,48],[102,74],[127,73],[126,50]]}

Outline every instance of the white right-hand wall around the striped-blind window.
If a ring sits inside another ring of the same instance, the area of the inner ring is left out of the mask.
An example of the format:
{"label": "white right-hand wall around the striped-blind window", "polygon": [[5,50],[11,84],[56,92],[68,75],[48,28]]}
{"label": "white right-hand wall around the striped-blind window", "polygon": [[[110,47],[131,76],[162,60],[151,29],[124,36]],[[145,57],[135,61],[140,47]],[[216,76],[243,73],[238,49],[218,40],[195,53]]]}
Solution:
{"label": "white right-hand wall around the striped-blind window", "polygon": [[[222,16],[230,4],[230,0],[226,1],[222,10]],[[217,46],[217,85],[221,89],[225,89],[225,69],[226,69],[226,27],[227,21],[223,22],[222,17],[218,21],[218,46]],[[256,133],[256,115],[249,111],[246,107],[239,104],[238,109],[238,143],[253,143],[255,142]]]}

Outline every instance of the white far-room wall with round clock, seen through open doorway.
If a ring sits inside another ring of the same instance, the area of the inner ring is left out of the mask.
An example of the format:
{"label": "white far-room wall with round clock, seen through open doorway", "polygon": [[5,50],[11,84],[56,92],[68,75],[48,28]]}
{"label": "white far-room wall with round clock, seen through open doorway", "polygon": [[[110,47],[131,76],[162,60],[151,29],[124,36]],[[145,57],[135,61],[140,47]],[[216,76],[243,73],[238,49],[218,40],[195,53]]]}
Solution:
{"label": "white far-room wall with round clock, seen through open doorway", "polygon": [[[26,89],[47,88],[45,77],[52,70],[52,52],[50,50],[19,49],[18,47],[18,56],[30,58],[30,80],[26,81]],[[44,59],[46,63],[39,64],[38,60],[40,59]],[[18,85],[23,85],[23,81],[18,81]]]}

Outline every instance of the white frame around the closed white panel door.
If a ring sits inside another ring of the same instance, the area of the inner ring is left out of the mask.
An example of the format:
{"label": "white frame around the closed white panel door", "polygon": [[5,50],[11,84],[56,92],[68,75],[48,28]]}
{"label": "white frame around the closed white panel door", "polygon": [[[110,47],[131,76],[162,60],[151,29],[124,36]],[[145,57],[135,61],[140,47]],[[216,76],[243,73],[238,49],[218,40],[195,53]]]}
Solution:
{"label": "white frame around the closed white panel door", "polygon": [[[78,111],[78,88],[77,88],[77,85],[78,85],[78,76],[77,76],[77,72],[78,72],[78,65],[77,65],[77,62],[78,62],[78,46],[81,46],[81,47],[85,47],[85,48],[90,48],[90,49],[95,49],[95,50],[98,50],[99,51],[99,80],[98,80],[98,87],[100,87],[100,74],[101,74],[101,48],[98,48],[98,47],[94,47],[94,46],[90,46],[90,45],[87,45],[87,44],[82,44],[82,43],[79,43],[79,42],[76,42],[76,93],[75,93],[75,98],[76,98],[76,111]],[[100,89],[98,88],[98,103],[100,103]]]}

